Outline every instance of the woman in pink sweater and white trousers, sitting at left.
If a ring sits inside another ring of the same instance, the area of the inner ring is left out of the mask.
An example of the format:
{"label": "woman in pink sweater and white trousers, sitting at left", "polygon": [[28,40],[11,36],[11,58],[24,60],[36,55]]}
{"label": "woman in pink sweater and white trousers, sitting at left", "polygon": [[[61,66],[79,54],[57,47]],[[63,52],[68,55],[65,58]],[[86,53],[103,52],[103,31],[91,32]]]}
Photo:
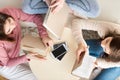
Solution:
{"label": "woman in pink sweater and white trousers, sitting at left", "polygon": [[19,56],[21,43],[21,27],[19,21],[30,21],[37,25],[39,35],[45,46],[51,46],[52,40],[42,26],[40,15],[29,15],[21,9],[4,8],[0,10],[0,74],[10,80],[37,80],[30,68],[25,64],[37,58],[36,53]]}

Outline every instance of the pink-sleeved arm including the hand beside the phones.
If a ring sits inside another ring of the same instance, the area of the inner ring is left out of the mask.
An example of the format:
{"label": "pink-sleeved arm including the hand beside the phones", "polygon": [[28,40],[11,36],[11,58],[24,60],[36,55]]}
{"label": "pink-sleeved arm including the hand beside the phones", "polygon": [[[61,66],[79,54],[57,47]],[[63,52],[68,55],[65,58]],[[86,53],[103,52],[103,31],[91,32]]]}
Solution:
{"label": "pink-sleeved arm including the hand beside the phones", "polygon": [[39,35],[40,35],[44,45],[46,47],[53,45],[53,40],[48,36],[48,33],[47,33],[45,27],[43,26],[43,18],[41,15],[26,14],[21,9],[12,9],[12,14],[13,14],[12,16],[16,15],[15,17],[18,20],[29,21],[29,22],[35,23],[37,25]]}

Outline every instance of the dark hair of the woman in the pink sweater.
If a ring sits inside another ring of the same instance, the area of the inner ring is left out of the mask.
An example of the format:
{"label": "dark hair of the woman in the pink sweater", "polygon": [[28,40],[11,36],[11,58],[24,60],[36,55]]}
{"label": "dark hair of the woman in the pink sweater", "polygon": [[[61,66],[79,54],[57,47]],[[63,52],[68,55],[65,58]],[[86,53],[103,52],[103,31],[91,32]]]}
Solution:
{"label": "dark hair of the woman in the pink sweater", "polygon": [[5,21],[9,18],[13,18],[12,16],[8,14],[4,14],[0,12],[0,40],[5,40],[5,41],[14,41],[14,38],[9,37],[8,35],[5,34],[4,32],[4,24]]}

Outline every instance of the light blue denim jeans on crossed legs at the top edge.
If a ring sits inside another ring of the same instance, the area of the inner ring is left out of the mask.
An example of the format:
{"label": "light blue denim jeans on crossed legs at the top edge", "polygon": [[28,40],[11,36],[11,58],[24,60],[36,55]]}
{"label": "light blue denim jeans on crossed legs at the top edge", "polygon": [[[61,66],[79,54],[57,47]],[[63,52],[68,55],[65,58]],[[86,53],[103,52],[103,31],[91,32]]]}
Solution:
{"label": "light blue denim jeans on crossed legs at the top edge", "polygon": [[[66,0],[66,3],[74,12],[86,17],[97,17],[100,12],[97,0]],[[45,14],[48,6],[43,0],[24,0],[22,10],[29,14]]]}

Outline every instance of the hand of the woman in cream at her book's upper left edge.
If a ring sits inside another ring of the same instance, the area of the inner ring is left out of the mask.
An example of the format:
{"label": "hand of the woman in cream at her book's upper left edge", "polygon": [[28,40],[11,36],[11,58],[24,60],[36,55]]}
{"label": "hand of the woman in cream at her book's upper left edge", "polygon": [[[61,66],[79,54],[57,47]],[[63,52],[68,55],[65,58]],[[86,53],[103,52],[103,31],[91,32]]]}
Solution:
{"label": "hand of the woman in cream at her book's upper left edge", "polygon": [[88,49],[88,47],[82,43],[78,45],[78,48],[76,50],[77,63],[80,63],[84,54],[87,52],[87,49]]}

